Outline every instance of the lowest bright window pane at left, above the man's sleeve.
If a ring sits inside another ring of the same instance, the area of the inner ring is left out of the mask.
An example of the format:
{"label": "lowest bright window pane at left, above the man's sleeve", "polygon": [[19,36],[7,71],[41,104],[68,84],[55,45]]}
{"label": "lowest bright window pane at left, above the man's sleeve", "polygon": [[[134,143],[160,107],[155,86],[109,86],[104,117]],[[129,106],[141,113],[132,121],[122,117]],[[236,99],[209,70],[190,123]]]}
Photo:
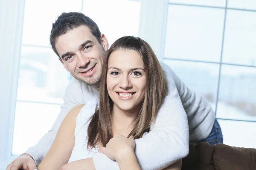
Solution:
{"label": "lowest bright window pane at left, above the man's sleeve", "polygon": [[12,155],[34,146],[52,127],[60,111],[60,105],[17,102]]}

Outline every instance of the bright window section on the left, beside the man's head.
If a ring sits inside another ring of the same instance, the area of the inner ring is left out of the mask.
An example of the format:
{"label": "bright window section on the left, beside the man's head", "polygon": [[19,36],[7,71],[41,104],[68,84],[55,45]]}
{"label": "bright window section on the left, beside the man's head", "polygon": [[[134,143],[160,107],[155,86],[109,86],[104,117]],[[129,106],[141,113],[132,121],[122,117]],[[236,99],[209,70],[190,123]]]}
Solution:
{"label": "bright window section on the left, beside the man's head", "polygon": [[81,0],[25,2],[12,155],[34,146],[58,116],[69,73],[49,45],[49,34],[59,14],[81,11],[81,4]]}

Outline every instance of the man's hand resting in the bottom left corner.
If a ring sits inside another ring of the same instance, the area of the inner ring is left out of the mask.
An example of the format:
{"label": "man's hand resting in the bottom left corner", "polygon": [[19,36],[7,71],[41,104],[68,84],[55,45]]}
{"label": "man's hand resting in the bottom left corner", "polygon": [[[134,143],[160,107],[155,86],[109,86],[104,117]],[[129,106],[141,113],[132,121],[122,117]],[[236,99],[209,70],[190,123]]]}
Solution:
{"label": "man's hand resting in the bottom left corner", "polygon": [[11,164],[9,164],[6,170],[37,170],[36,163],[32,156],[29,154],[23,154],[17,157]]}

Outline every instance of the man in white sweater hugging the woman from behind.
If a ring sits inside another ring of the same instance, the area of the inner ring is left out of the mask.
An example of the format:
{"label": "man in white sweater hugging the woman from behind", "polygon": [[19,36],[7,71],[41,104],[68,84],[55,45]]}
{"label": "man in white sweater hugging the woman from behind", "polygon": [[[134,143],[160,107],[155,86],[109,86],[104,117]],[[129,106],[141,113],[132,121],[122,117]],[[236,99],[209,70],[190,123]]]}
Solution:
{"label": "man in white sweater hugging the woman from behind", "polygon": [[[29,148],[25,154],[9,164],[7,170],[36,169],[36,165],[40,164],[48,152],[58,127],[68,111],[75,105],[86,104],[88,100],[98,97],[108,40],[100,33],[96,23],[81,13],[63,13],[52,25],[50,42],[64,68],[74,78],[66,89],[64,105],[52,129],[35,147]],[[150,133],[136,140],[135,153],[142,169],[167,167],[188,154],[189,138],[191,142],[207,141],[208,136],[215,135],[212,135],[213,127],[216,125],[215,113],[209,103],[187,88],[171,68],[164,64],[162,67],[168,80],[169,94],[157,114]],[[176,115],[179,115],[178,119]],[[178,127],[177,122],[180,122]],[[215,140],[215,136],[211,139]],[[222,135],[218,134],[218,137]],[[74,161],[62,167],[67,170],[85,168],[119,169],[115,161],[108,159],[102,153],[96,153],[90,159]]]}

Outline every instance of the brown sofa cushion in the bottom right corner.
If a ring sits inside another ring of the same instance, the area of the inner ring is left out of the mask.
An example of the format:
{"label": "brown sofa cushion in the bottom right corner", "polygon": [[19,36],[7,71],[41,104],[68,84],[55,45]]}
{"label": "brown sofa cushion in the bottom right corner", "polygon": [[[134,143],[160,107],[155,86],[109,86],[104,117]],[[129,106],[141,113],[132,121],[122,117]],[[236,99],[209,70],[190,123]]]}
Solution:
{"label": "brown sofa cushion in the bottom right corner", "polygon": [[213,161],[216,170],[256,170],[256,149],[216,144]]}

